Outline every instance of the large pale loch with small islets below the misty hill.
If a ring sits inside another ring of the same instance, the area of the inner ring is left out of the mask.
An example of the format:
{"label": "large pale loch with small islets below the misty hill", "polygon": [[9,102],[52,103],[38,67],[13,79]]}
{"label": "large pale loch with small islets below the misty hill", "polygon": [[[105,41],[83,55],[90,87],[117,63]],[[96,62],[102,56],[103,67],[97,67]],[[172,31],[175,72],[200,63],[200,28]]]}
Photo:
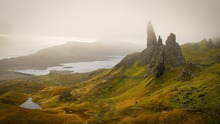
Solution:
{"label": "large pale loch with small islets below the misty hill", "polygon": [[93,62],[77,62],[77,63],[63,63],[60,66],[48,67],[45,70],[15,70],[17,73],[29,75],[46,75],[50,71],[70,71],[74,73],[86,73],[100,68],[112,68],[123,59],[123,56],[113,56],[107,61],[93,61]]}

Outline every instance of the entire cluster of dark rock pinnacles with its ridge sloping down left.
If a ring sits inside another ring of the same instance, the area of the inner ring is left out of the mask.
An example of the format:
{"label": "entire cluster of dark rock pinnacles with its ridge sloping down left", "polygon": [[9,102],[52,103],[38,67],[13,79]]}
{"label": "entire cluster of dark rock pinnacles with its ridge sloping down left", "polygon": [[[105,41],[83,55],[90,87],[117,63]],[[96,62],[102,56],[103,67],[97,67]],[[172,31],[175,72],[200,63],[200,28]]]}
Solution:
{"label": "entire cluster of dark rock pinnacles with its ridge sloping down left", "polygon": [[141,53],[126,56],[115,66],[115,69],[121,68],[122,71],[125,71],[136,62],[138,62],[138,66],[149,65],[145,77],[154,76],[156,78],[163,74],[165,66],[184,66],[186,63],[180,46],[176,42],[175,34],[171,33],[166,40],[166,45],[163,45],[160,36],[157,41],[151,22],[147,27],[147,48]]}

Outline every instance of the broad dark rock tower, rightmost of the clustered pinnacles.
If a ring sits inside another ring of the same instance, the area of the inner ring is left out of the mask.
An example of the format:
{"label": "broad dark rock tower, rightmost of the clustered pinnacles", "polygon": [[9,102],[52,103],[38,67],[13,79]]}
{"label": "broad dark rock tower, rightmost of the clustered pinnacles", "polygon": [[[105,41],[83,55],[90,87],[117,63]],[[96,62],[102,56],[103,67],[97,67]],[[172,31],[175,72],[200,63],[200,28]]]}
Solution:
{"label": "broad dark rock tower, rightmost of the clustered pinnacles", "polygon": [[176,36],[173,33],[166,40],[165,64],[172,66],[184,66],[186,64],[180,46],[176,42]]}

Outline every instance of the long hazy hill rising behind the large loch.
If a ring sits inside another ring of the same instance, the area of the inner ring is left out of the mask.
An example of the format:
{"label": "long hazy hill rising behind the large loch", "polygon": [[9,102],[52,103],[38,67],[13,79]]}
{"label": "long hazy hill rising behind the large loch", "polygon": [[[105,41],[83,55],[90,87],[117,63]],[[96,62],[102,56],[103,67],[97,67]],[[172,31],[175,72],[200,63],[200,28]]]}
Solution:
{"label": "long hazy hill rising behind the large loch", "polygon": [[108,56],[125,56],[139,50],[141,46],[127,42],[67,42],[31,55],[0,60],[0,80],[27,77],[8,70],[45,69],[61,63],[107,60]]}

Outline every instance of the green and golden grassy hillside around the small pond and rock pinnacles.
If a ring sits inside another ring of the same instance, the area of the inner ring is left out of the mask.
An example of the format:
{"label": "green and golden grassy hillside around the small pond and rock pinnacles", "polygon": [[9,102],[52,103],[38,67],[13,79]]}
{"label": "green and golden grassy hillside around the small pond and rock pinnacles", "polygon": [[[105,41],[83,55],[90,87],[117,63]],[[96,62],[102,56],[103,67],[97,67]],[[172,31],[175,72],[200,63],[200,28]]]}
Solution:
{"label": "green and golden grassy hillside around the small pond and rock pinnacles", "polygon": [[[89,74],[53,74],[0,84],[0,98],[14,102],[0,101],[4,113],[0,122],[220,123],[220,49],[207,48],[206,42],[181,49],[190,71],[185,77],[181,67],[166,66],[161,77],[145,78],[149,65],[136,58],[122,60],[128,65]],[[181,76],[184,80],[179,80]],[[43,110],[19,108],[27,95]]]}

